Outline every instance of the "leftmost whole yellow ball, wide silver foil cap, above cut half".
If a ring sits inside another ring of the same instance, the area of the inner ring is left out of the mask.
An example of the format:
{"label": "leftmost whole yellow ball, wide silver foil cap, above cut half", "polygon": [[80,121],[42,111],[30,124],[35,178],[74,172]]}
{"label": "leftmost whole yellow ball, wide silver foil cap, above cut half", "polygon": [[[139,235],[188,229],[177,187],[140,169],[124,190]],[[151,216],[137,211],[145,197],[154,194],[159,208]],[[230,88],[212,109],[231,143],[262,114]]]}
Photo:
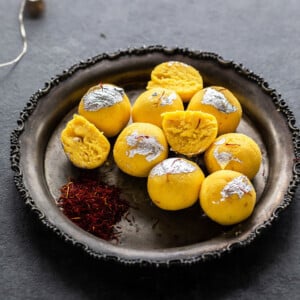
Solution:
{"label": "leftmost whole yellow ball, wide silver foil cap, above cut half", "polygon": [[130,101],[124,90],[111,84],[90,88],[82,97],[78,113],[93,123],[107,137],[117,135],[131,116]]}

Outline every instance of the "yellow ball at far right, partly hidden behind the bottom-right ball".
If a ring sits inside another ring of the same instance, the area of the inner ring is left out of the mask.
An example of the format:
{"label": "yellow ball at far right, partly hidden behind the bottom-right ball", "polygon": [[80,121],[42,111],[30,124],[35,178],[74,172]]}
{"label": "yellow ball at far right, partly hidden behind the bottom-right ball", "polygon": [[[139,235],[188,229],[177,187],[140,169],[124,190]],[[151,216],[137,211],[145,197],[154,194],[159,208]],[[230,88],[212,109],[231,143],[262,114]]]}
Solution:
{"label": "yellow ball at far right, partly hidden behind the bottom-right ball", "polygon": [[242,133],[227,133],[219,136],[204,154],[209,173],[218,170],[233,170],[252,180],[259,171],[262,154],[258,144]]}

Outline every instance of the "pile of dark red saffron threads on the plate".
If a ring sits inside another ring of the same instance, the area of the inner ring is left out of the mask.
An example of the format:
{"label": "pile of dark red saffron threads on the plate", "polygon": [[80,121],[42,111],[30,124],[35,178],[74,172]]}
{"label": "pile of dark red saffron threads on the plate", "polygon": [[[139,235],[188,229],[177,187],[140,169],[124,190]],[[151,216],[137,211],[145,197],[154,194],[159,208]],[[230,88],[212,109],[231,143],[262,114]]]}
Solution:
{"label": "pile of dark red saffron threads on the plate", "polygon": [[104,240],[118,239],[114,225],[129,209],[118,188],[85,176],[61,187],[58,206],[79,227]]}

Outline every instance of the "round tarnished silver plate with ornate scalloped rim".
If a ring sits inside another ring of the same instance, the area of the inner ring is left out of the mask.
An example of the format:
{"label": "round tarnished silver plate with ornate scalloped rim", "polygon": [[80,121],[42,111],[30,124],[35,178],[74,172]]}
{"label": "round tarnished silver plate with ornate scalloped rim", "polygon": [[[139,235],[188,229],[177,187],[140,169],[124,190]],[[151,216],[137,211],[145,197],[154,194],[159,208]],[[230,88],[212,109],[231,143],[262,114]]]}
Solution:
{"label": "round tarnished silver plate with ornate scalloped rim", "polygon": [[[198,204],[179,212],[162,211],[151,204],[145,179],[123,174],[110,157],[110,163],[98,172],[104,181],[121,188],[131,208],[128,217],[118,224],[119,241],[104,241],[76,226],[56,205],[59,188],[78,174],[62,150],[60,132],[89,87],[99,82],[114,83],[123,87],[133,102],[145,90],[153,67],[169,60],[194,66],[205,86],[224,86],[240,100],[244,114],[237,131],[254,138],[263,153],[261,169],[254,179],[257,206],[249,219],[231,227],[210,221]],[[299,183],[299,148],[293,113],[264,79],[214,53],[151,46],[101,54],[47,82],[30,98],[11,134],[11,165],[22,199],[42,223],[66,241],[97,258],[184,264],[248,245],[272,223],[291,202]]]}

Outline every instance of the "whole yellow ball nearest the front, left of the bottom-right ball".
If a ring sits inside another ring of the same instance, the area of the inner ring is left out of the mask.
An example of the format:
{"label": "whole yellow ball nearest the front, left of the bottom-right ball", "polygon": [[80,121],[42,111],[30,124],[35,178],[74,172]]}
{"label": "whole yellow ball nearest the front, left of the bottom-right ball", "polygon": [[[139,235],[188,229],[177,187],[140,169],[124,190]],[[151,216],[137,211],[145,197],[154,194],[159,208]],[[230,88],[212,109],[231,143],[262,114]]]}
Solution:
{"label": "whole yellow ball nearest the front, left of the bottom-right ball", "polygon": [[184,158],[168,158],[157,164],[148,176],[148,194],[164,210],[181,210],[195,204],[204,174],[200,167]]}

